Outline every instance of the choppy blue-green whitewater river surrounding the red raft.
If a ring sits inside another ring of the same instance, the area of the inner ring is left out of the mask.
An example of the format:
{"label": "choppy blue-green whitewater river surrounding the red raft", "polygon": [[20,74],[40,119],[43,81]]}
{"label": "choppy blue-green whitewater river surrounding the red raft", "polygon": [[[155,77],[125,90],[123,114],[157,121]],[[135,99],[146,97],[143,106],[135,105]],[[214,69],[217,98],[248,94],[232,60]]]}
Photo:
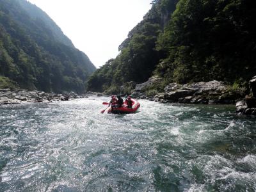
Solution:
{"label": "choppy blue-green whitewater river surrounding the red raft", "polygon": [[106,97],[0,106],[0,191],[256,191],[256,118]]}

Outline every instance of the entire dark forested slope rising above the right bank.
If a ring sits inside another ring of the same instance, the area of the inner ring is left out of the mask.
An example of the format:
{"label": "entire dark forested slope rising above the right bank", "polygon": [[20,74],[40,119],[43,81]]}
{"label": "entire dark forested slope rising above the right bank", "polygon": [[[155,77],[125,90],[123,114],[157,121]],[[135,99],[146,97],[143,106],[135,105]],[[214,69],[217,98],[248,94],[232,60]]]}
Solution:
{"label": "entire dark forested slope rising above the right bank", "polygon": [[129,93],[150,76],[243,84],[256,73],[255,23],[253,0],[155,0],[88,89],[117,93],[124,85]]}

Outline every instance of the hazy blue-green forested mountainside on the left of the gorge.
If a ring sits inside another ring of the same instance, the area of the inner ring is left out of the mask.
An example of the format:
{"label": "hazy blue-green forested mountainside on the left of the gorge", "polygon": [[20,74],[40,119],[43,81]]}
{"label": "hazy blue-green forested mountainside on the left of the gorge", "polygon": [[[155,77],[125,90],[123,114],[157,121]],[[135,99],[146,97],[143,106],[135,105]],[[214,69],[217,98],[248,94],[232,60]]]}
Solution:
{"label": "hazy blue-green forested mountainside on the left of the gorge", "polygon": [[0,84],[84,92],[95,71],[45,12],[26,0],[0,1]]}

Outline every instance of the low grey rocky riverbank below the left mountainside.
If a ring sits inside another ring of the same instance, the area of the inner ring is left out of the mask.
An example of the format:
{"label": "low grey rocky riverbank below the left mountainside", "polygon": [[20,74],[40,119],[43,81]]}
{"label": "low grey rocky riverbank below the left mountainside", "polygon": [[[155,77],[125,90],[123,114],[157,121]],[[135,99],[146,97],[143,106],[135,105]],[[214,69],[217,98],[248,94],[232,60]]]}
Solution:
{"label": "low grey rocky riverbank below the left mountainside", "polygon": [[24,89],[0,89],[0,105],[20,104],[22,102],[59,102],[81,97],[86,97],[86,95],[77,95],[74,92],[56,94],[45,93],[37,90],[29,91]]}

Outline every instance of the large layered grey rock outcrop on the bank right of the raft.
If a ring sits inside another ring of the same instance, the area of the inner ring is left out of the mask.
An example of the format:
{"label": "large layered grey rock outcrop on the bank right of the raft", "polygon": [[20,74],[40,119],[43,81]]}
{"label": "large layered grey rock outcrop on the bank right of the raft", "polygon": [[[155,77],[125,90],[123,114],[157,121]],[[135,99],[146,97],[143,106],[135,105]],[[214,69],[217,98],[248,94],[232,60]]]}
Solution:
{"label": "large layered grey rock outcrop on the bank right of the raft", "polygon": [[234,104],[236,97],[230,94],[228,86],[222,81],[209,81],[191,84],[170,83],[163,93],[147,96],[148,87],[157,86],[161,78],[152,77],[147,82],[137,84],[132,97],[158,102],[179,102],[190,104]]}

